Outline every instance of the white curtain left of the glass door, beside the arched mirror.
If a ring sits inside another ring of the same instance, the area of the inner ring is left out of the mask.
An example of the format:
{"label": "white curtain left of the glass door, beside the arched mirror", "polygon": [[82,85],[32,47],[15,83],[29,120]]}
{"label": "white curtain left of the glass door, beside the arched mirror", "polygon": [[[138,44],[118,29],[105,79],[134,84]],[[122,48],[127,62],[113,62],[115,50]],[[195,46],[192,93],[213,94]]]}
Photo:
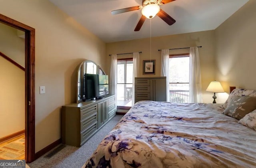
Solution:
{"label": "white curtain left of the glass door, beside the arched mirror", "polygon": [[110,94],[116,95],[116,85],[117,85],[117,55],[111,55],[110,63]]}

